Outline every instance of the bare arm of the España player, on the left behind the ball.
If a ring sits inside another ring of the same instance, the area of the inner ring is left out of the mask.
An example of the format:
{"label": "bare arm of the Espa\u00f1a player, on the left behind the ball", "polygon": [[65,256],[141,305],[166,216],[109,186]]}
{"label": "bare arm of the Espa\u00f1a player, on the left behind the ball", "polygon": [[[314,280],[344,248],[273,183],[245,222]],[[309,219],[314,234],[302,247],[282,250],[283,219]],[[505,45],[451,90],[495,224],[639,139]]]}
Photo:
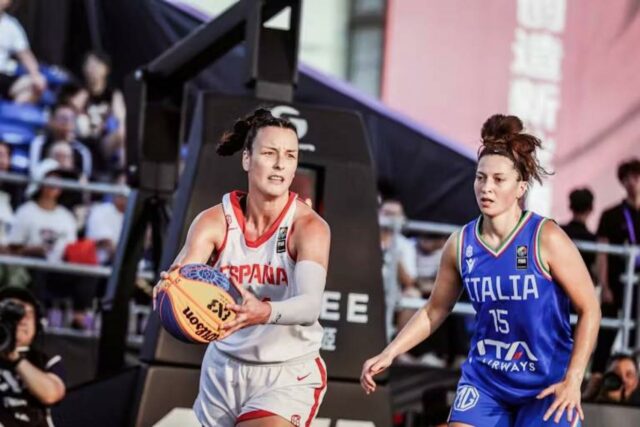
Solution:
{"label": "bare arm of the Espa\u00f1a player, on the left behind the ball", "polygon": [[[185,264],[206,263],[214,250],[218,250],[224,241],[226,221],[222,206],[214,206],[201,212],[191,223],[184,246],[178,252],[168,271],[175,270]],[[160,280],[153,287],[153,308],[155,310],[156,295],[164,286],[168,272],[160,273]]]}

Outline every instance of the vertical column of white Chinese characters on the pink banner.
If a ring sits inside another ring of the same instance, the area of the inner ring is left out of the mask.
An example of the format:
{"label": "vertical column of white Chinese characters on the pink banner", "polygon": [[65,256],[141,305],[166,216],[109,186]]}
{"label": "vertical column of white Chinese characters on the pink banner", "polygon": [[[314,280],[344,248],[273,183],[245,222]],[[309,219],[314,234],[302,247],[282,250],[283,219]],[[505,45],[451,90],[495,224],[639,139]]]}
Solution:
{"label": "vertical column of white Chinese characters on the pink banner", "polygon": [[[512,43],[509,113],[520,117],[528,131],[542,140],[538,159],[548,171],[553,170],[556,148],[566,10],[567,0],[518,0]],[[551,184],[534,184],[528,203],[538,213],[550,215]]]}

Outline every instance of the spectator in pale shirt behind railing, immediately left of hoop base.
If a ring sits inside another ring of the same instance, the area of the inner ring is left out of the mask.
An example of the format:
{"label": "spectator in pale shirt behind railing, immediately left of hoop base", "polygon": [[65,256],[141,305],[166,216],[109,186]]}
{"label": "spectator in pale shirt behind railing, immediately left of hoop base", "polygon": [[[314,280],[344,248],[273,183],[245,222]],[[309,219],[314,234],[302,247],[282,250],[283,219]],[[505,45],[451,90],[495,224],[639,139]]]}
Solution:
{"label": "spectator in pale shirt behind railing, immediately left of hoop base", "polygon": [[[126,175],[118,173],[116,184],[124,186]],[[116,253],[120,231],[124,222],[127,197],[115,195],[111,201],[91,206],[87,218],[87,237],[98,246],[98,260],[102,265],[111,264]]]}

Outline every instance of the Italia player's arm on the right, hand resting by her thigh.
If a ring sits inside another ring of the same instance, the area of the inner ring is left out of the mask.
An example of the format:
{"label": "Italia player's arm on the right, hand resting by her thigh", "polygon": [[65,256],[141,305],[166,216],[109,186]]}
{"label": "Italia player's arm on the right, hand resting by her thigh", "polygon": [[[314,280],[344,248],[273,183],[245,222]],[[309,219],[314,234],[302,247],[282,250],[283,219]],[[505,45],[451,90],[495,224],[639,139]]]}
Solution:
{"label": "Italia player's arm on the right, hand resting by her thigh", "polygon": [[553,221],[542,226],[541,258],[551,277],[565,291],[578,313],[573,352],[564,379],[547,387],[538,398],[555,394],[556,398],[544,415],[547,420],[555,412],[558,422],[564,411],[571,421],[574,409],[584,419],[580,404],[580,386],[593,352],[600,327],[600,305],[591,275],[569,236]]}

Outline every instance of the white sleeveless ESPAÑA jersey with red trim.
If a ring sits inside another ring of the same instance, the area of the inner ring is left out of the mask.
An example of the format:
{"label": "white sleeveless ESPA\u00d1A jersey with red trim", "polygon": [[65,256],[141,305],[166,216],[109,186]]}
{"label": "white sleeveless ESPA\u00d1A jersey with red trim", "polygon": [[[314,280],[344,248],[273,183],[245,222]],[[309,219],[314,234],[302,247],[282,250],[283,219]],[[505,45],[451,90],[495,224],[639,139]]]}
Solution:
{"label": "white sleeveless ESPA\u00d1A jersey with red trim", "polygon": [[[214,267],[233,277],[262,301],[283,301],[293,295],[295,260],[287,250],[287,239],[296,213],[295,193],[271,227],[257,240],[244,236],[245,218],[234,191],[222,198],[227,234]],[[231,357],[256,363],[281,363],[317,354],[322,326],[254,325],[212,343]]]}

